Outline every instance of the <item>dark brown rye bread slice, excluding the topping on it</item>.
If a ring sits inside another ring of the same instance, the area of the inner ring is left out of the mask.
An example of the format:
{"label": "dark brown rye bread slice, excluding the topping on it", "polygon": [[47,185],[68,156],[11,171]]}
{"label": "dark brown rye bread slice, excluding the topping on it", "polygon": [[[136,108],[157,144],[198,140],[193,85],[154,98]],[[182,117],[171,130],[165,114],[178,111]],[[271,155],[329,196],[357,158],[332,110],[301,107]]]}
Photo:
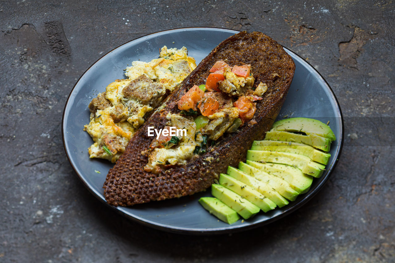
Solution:
{"label": "dark brown rye bread slice, excluding the topping on it", "polygon": [[[217,60],[230,66],[251,64],[256,87],[267,84],[263,100],[257,101],[254,125],[245,124],[239,132],[219,139],[207,153],[190,160],[186,165],[171,168],[159,175],[144,171],[153,137],[147,137],[147,127],[163,128],[169,112],[178,113],[177,101],[193,85],[205,83],[209,70]],[[260,32],[240,32],[222,41],[203,59],[134,134],[125,152],[110,169],[104,183],[104,196],[111,205],[135,205],[200,192],[208,188],[228,165],[237,166],[245,160],[254,140],[263,139],[278,115],[291,85],[295,64],[275,40]],[[162,105],[162,106],[163,106]]]}

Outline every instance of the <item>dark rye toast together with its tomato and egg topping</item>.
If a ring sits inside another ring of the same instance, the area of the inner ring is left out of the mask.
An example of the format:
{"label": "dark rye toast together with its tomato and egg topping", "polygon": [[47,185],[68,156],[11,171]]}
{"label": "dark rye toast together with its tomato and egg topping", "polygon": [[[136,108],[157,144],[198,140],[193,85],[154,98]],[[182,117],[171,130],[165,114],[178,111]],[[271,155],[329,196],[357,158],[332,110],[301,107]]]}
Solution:
{"label": "dark rye toast together with its tomato and egg topping", "polygon": [[[135,132],[107,175],[107,202],[135,205],[208,188],[228,165],[245,158],[254,140],[263,139],[294,71],[282,46],[260,32],[224,40]],[[148,127],[166,126],[187,134],[147,136]]]}

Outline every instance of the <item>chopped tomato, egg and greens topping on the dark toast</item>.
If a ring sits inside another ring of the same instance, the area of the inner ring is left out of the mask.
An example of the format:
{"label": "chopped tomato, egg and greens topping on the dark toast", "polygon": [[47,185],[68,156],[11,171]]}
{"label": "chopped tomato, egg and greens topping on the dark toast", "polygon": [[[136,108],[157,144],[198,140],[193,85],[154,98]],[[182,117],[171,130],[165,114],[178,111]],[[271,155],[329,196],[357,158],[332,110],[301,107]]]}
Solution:
{"label": "chopped tomato, egg and greens topping on the dark toast", "polygon": [[[167,123],[177,128],[190,127],[187,136],[173,138],[175,136],[161,135],[154,139],[145,171],[160,173],[168,167],[184,165],[194,154],[207,152],[209,145],[215,144],[225,132],[237,131],[254,117],[254,101],[262,100],[260,96],[265,93],[267,85],[260,83],[256,91],[252,90],[255,79],[251,66],[235,65],[231,68],[219,60],[210,72],[205,85],[194,85],[181,97],[177,102],[180,114],[172,113],[171,121]],[[256,122],[252,120],[249,124]]]}

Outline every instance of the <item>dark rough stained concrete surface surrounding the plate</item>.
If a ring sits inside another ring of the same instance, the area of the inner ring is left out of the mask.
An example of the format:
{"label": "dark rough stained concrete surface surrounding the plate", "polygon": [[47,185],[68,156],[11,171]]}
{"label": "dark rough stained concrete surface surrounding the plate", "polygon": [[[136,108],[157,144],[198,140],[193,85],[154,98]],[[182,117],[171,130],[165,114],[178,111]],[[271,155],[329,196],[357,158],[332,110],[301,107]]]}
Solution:
{"label": "dark rough stained concrete surface surrounding the plate", "polygon": [[[56,3],[54,3],[56,2]],[[395,262],[392,1],[1,1],[0,262]],[[82,73],[131,39],[171,28],[258,30],[333,88],[345,143],[312,201],[233,235],[165,233],[91,195],[62,145]]]}

